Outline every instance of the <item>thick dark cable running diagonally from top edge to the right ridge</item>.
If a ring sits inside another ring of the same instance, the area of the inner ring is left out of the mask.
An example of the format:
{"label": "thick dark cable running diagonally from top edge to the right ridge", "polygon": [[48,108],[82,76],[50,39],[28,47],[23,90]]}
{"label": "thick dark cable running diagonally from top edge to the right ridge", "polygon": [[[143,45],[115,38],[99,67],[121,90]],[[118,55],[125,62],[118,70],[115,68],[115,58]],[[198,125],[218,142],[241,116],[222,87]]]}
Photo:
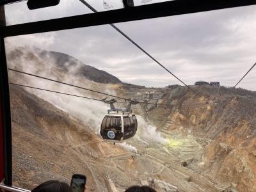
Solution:
{"label": "thick dark cable running diagonally from top edge to the right ridge", "polygon": [[[86,6],[88,6],[88,8],[90,8],[90,10],[92,10],[93,12],[97,13],[97,10],[95,10],[95,8],[93,8],[90,4],[88,4],[86,1],[84,0],[79,0],[81,1],[81,3],[85,4]],[[140,45],[136,44],[136,42],[134,42],[129,36],[127,36],[123,31],[121,31],[119,28],[117,28],[114,24],[109,24],[112,28],[116,29],[116,31],[118,31],[121,35],[123,35],[125,38],[127,38],[127,40],[129,40],[132,44],[134,44],[136,47],[138,47],[138,49],[140,49],[142,52],[144,52],[145,54],[147,54],[148,57],[150,57],[153,61],[155,61],[158,65],[160,65],[161,67],[163,67],[167,72],[169,72],[173,77],[175,77],[176,79],[178,79],[180,81],[180,83],[184,84],[186,87],[189,88],[189,90],[192,90],[195,94],[196,93],[195,90],[193,90],[193,88],[191,88],[190,86],[188,86],[188,84],[184,83],[181,79],[179,79],[179,77],[175,76],[175,74],[173,74],[170,70],[168,70],[168,68],[164,67],[159,61],[157,61],[153,56],[151,56],[147,51],[145,51],[145,49],[143,49]]]}

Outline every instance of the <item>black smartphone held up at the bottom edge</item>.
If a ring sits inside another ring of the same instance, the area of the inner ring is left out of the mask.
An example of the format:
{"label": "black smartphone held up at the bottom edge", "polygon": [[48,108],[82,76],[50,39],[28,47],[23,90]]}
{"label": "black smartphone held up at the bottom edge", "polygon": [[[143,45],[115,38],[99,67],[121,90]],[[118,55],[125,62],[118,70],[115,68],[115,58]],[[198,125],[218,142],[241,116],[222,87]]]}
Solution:
{"label": "black smartphone held up at the bottom edge", "polygon": [[85,175],[74,174],[72,175],[70,187],[72,192],[84,192],[86,184],[86,177]]}

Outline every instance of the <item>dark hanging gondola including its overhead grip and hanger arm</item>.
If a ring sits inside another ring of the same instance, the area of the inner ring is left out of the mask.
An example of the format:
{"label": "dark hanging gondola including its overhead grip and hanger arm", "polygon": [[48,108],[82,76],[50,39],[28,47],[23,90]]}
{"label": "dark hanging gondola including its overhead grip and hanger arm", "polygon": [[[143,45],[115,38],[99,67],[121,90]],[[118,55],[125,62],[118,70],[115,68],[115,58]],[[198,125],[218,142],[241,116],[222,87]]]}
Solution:
{"label": "dark hanging gondola including its overhead grip and hanger arm", "polygon": [[115,99],[105,99],[102,102],[108,103],[111,106],[108,114],[104,116],[100,127],[102,139],[115,144],[132,138],[137,132],[138,122],[136,116],[132,114],[131,105],[138,102],[129,100],[126,109],[115,108],[113,105],[116,102]]}

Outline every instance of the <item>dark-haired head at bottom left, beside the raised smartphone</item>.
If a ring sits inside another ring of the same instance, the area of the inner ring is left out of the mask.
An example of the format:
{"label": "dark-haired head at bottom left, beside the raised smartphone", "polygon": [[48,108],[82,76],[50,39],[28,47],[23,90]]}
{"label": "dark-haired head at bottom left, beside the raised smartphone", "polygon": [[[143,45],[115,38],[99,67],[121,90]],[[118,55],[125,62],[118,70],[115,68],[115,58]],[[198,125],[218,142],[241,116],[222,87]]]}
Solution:
{"label": "dark-haired head at bottom left, beside the raised smartphone", "polygon": [[31,192],[72,192],[72,190],[65,182],[49,180],[40,184]]}

